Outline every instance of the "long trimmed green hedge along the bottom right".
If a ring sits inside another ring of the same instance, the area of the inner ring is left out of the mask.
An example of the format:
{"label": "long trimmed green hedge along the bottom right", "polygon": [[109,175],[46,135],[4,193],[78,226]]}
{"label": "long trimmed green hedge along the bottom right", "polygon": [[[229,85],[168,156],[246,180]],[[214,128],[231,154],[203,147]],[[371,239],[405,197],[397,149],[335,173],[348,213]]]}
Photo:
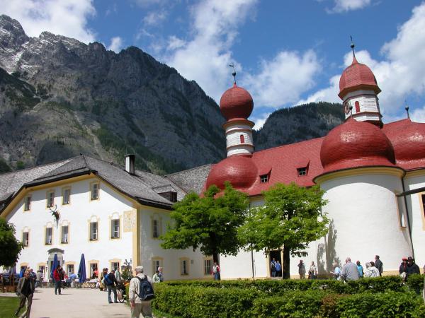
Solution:
{"label": "long trimmed green hedge along the bottom right", "polygon": [[[424,276],[360,281],[169,281],[152,306],[173,317],[425,317]],[[411,291],[409,291],[411,290]]]}

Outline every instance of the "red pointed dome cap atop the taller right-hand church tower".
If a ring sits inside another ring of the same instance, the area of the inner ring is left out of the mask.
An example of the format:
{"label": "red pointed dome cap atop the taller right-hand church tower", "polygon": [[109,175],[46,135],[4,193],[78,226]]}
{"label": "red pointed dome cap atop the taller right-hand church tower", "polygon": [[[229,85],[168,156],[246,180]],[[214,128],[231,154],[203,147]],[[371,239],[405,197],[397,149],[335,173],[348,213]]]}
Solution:
{"label": "red pointed dome cap atop the taller right-hand church tower", "polygon": [[342,72],[339,78],[339,94],[342,99],[347,93],[354,90],[367,89],[380,93],[380,88],[376,82],[375,75],[365,64],[358,63],[356,57],[353,62]]}

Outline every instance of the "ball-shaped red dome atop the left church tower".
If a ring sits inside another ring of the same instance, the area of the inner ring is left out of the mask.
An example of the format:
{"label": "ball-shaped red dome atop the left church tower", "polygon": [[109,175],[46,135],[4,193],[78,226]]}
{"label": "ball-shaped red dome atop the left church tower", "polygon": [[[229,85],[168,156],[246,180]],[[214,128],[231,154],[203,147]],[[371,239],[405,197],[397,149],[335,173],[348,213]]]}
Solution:
{"label": "ball-shaped red dome atop the left church tower", "polygon": [[225,91],[220,99],[220,111],[225,119],[244,118],[247,119],[254,108],[251,94],[234,83],[232,88]]}

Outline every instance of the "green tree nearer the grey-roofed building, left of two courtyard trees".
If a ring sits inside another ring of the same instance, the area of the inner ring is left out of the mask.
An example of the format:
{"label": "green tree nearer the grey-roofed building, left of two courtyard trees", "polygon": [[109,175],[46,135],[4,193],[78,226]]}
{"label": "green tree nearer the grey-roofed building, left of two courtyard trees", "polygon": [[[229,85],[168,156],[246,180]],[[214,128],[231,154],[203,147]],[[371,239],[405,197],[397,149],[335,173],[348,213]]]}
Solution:
{"label": "green tree nearer the grey-roofed building, left of two courtyard trees", "polygon": [[[165,249],[192,247],[204,255],[236,255],[241,245],[237,229],[244,223],[249,206],[246,194],[226,182],[223,193],[211,186],[203,196],[191,193],[173,206],[169,230],[160,237]],[[219,195],[217,195],[219,194]]]}

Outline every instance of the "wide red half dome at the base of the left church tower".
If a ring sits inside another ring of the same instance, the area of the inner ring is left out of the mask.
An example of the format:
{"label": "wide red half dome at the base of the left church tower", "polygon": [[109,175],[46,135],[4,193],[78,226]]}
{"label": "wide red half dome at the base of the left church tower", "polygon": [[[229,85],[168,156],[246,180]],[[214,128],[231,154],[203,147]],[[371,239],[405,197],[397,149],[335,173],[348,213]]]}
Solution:
{"label": "wide red half dome at the base of the left church tower", "polygon": [[225,189],[225,182],[229,181],[235,189],[251,187],[257,178],[257,167],[251,157],[232,155],[214,165],[208,175],[206,187],[215,184]]}

